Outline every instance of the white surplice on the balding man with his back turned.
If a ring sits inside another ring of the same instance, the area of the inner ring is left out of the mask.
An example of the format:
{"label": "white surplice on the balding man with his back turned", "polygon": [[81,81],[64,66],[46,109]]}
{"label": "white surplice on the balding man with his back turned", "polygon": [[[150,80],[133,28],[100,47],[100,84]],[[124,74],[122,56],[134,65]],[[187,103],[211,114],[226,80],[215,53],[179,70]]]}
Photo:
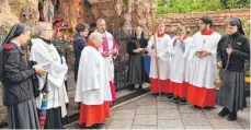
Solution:
{"label": "white surplice on the balding man with his back turned", "polygon": [[75,102],[83,105],[102,105],[112,101],[105,61],[92,46],[85,46],[79,62]]}

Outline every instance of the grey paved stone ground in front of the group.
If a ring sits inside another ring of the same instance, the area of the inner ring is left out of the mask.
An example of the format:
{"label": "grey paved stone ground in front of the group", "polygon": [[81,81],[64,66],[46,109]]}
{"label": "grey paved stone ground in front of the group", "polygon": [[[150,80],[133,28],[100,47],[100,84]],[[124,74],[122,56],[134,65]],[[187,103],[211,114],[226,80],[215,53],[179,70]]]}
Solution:
{"label": "grey paved stone ground in front of the group", "polygon": [[[169,102],[163,96],[146,95],[112,108],[105,129],[250,129],[250,107],[238,113],[237,121],[218,117],[220,109],[219,106],[210,110],[197,109]],[[67,127],[78,128],[78,122]]]}

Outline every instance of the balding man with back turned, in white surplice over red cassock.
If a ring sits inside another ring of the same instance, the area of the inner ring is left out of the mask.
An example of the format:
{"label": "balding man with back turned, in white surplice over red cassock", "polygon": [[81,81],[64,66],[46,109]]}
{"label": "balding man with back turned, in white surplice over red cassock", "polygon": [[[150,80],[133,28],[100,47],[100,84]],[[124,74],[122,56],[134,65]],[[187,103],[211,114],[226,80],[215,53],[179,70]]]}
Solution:
{"label": "balding man with back turned, in white surplice over red cassock", "polygon": [[104,58],[99,52],[102,35],[94,32],[80,57],[75,102],[81,102],[79,125],[100,128],[110,118],[111,87]]}

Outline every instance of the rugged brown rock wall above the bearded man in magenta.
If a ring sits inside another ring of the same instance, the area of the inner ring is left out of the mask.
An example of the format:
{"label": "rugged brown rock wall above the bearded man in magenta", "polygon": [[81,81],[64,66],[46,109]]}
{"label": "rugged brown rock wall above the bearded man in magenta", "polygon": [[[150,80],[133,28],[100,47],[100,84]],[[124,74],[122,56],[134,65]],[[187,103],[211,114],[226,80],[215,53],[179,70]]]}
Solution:
{"label": "rugged brown rock wall above the bearded man in magenta", "polygon": [[133,29],[141,26],[145,34],[151,34],[152,0],[89,0],[92,4],[91,15],[85,22],[94,23],[104,19],[109,29]]}

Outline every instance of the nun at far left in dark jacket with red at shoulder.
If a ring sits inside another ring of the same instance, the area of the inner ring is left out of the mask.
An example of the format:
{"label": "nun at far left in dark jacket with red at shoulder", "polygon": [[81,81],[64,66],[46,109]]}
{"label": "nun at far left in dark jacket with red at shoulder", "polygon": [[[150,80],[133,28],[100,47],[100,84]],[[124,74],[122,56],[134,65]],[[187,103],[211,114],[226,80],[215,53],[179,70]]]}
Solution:
{"label": "nun at far left in dark jacket with red at shoulder", "polygon": [[31,28],[15,24],[2,45],[1,78],[3,104],[8,109],[9,129],[39,129],[32,76],[46,73],[43,67],[28,68],[21,46],[31,38]]}

